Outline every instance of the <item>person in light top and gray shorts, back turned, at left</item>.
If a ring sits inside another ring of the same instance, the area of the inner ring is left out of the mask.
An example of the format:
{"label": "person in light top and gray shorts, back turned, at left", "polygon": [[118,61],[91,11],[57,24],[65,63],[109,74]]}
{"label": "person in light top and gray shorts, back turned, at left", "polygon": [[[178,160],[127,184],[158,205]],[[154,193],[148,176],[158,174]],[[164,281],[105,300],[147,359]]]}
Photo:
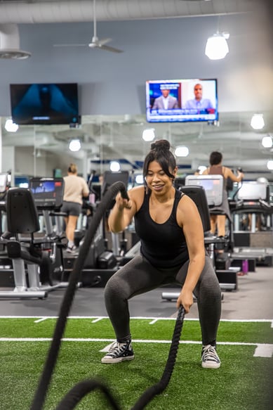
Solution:
{"label": "person in light top and gray shorts, back turned, at left", "polygon": [[65,217],[65,233],[68,239],[67,252],[74,252],[76,245],[74,245],[74,231],[76,223],[81,213],[81,206],[83,205],[83,197],[89,195],[89,188],[84,178],[79,177],[78,169],[75,164],[70,164],[67,170],[67,176],[64,177],[65,190],[62,202],[61,212],[67,213]]}

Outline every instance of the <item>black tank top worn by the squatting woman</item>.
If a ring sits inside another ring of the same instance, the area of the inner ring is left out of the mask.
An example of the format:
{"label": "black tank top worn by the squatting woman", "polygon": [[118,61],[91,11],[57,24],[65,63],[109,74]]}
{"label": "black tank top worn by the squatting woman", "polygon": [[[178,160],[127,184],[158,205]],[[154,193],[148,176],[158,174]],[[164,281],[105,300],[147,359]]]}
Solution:
{"label": "black tank top worn by the squatting woman", "polygon": [[178,203],[184,195],[175,189],[175,199],[170,217],[164,224],[157,224],[149,214],[149,197],[145,193],[140,210],[135,214],[135,232],[140,238],[140,253],[154,265],[167,268],[184,264],[189,255],[182,228],[176,221]]}

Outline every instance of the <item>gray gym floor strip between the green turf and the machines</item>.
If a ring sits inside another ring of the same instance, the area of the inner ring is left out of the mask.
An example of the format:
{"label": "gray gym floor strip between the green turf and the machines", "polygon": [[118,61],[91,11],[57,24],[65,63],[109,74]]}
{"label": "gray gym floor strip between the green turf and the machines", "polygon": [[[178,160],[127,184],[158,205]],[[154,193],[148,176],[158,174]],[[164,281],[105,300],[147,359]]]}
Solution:
{"label": "gray gym floor strip between the green turf and the machines", "polygon": [[[273,321],[273,268],[256,267],[254,272],[238,276],[238,289],[223,290],[221,319],[272,319]],[[0,290],[8,290],[1,288]],[[175,300],[162,299],[163,292],[178,292],[179,288],[160,288],[129,301],[131,316],[175,317]],[[76,290],[70,316],[107,316],[103,288],[79,288]],[[1,316],[58,316],[65,289],[53,290],[44,300],[1,299]],[[189,319],[198,318],[194,302]]]}

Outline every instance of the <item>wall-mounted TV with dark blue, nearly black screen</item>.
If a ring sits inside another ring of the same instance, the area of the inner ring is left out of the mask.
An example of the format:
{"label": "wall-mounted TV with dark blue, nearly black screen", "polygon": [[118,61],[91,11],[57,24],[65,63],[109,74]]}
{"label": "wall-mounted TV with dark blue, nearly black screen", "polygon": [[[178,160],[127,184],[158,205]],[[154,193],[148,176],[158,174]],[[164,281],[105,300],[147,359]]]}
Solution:
{"label": "wall-mounted TV with dark blue, nearly black screen", "polygon": [[16,124],[79,124],[78,86],[10,84],[11,116]]}

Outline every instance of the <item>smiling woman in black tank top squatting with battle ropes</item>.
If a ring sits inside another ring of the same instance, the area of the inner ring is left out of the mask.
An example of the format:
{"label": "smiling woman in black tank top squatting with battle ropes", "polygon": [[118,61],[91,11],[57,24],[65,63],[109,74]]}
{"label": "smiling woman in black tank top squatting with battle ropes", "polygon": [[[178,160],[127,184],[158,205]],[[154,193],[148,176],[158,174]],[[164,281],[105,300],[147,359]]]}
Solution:
{"label": "smiling woman in black tank top squatting with battle ropes", "polygon": [[168,283],[182,288],[177,307],[188,313],[197,297],[202,334],[201,361],[217,369],[216,335],[221,313],[221,291],[211,259],[204,248],[204,232],[194,202],[173,186],[178,167],[170,143],[152,143],[143,165],[144,186],[128,191],[130,200],[116,196],[109,215],[109,229],[124,231],[135,220],[140,255],[121,267],[105,286],[105,305],[116,333],[116,342],[102,363],[134,358],[128,300]]}

